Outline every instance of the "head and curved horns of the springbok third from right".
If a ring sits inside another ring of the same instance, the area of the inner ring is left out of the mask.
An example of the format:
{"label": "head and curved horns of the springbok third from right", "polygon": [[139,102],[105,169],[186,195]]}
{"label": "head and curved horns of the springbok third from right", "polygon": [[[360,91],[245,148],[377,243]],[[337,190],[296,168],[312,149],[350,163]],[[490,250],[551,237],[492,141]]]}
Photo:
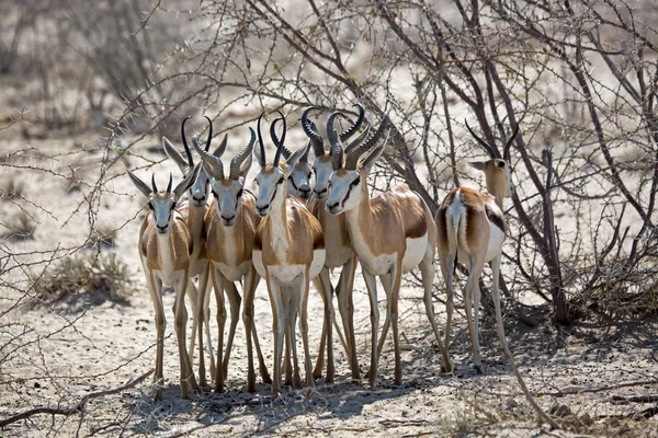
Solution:
{"label": "head and curved horns of the springbok third from right", "polygon": [[[338,135],[338,138],[341,141],[347,141],[350,137],[352,137],[359,130],[365,118],[365,108],[363,105],[356,103],[353,106],[359,108],[359,117],[356,118],[356,122],[354,122],[348,129]],[[308,113],[313,110],[315,108],[309,106],[304,111],[304,113],[302,113],[302,128],[308,137],[308,141],[310,142],[310,146],[313,146],[313,150],[315,152],[313,171],[315,173],[316,181],[313,192],[318,199],[324,199],[329,193],[329,176],[331,176],[331,172],[333,171],[331,165],[331,149],[328,151],[325,150],[325,141],[322,137],[318,134],[315,124],[308,120]],[[362,142],[367,137],[368,132],[370,126],[359,136],[359,138],[356,138],[354,143]],[[348,148],[350,148],[350,146]]]}

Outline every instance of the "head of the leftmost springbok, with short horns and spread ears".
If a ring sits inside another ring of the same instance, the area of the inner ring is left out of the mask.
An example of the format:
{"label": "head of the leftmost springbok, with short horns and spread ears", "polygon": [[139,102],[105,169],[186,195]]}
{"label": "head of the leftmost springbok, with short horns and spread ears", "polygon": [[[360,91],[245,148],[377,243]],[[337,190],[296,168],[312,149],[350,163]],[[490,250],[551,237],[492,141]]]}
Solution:
{"label": "head of the leftmost springbok, with short horns and spread ears", "polygon": [[170,230],[171,221],[173,219],[173,209],[185,191],[190,189],[192,184],[194,184],[196,177],[198,176],[200,170],[201,166],[198,164],[192,168],[192,171],[188,172],[183,181],[181,181],[173,191],[171,189],[173,182],[171,173],[169,174],[169,184],[167,185],[167,189],[158,191],[155,174],[151,175],[151,186],[149,187],[144,181],[127,170],[133,184],[135,184],[139,192],[141,192],[141,194],[148,199],[148,208],[154,214],[154,219],[156,220],[156,231],[159,234],[166,234]]}

